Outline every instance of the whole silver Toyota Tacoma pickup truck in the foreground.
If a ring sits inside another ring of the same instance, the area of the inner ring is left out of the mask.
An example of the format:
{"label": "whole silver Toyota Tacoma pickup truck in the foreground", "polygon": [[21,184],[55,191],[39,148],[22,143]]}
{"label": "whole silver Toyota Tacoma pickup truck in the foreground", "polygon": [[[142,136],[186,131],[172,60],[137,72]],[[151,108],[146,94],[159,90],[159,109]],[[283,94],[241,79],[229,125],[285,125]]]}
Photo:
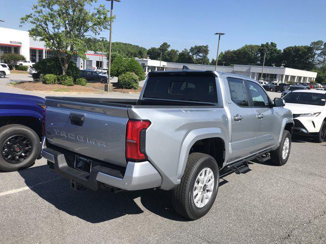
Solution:
{"label": "whole silver Toyota Tacoma pickup truck in the foreground", "polygon": [[47,97],[42,156],[75,189],[172,190],[176,211],[195,220],[222,174],[287,162],[294,124],[284,105],[248,77],[153,72],[139,100]]}

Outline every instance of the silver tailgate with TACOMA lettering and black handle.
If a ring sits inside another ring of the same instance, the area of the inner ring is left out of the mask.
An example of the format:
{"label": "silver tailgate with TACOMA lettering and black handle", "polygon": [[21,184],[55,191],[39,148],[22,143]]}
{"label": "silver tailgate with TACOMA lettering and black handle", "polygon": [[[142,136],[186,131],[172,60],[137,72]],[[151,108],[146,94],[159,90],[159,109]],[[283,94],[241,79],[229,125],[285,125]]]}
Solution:
{"label": "silver tailgate with TACOMA lettering and black handle", "polygon": [[47,143],[126,166],[127,105],[107,106],[52,98],[46,99],[46,105]]}

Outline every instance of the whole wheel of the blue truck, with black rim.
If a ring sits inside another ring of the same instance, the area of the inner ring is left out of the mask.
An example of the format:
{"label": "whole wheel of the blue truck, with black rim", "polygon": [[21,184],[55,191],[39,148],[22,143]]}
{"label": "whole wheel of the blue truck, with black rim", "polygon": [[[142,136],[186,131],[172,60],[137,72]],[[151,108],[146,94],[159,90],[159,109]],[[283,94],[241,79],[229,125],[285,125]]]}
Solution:
{"label": "whole wheel of the blue truck, with black rim", "polygon": [[40,139],[29,127],[7,125],[0,128],[0,169],[16,171],[32,166],[40,153]]}

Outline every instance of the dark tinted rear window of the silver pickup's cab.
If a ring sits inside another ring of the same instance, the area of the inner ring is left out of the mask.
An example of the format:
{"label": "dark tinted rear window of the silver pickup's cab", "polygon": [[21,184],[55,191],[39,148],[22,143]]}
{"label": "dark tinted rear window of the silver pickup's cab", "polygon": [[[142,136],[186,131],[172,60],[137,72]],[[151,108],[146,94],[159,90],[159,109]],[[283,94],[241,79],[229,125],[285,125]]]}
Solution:
{"label": "dark tinted rear window of the silver pickup's cab", "polygon": [[147,80],[144,98],[217,103],[212,74],[153,75]]}

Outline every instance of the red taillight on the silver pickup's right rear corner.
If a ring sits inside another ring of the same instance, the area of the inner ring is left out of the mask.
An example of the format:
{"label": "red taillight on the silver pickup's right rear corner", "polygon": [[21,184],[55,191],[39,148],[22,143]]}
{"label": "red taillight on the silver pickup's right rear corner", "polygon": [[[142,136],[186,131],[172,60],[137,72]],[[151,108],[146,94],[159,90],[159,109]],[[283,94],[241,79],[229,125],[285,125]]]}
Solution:
{"label": "red taillight on the silver pickup's right rear corner", "polygon": [[126,133],[126,158],[131,161],[145,160],[145,136],[150,121],[128,120]]}

